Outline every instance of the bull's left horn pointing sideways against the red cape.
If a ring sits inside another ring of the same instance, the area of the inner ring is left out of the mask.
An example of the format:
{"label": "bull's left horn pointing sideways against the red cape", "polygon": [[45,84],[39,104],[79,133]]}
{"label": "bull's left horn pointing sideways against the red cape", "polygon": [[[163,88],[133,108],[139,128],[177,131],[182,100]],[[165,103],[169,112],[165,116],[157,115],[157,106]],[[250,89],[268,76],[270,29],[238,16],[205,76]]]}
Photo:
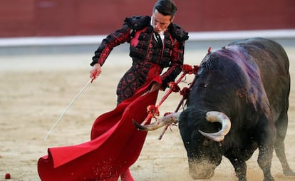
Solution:
{"label": "bull's left horn pointing sideways against the red cape", "polygon": [[161,128],[164,125],[170,123],[178,123],[179,115],[180,113],[171,113],[169,115],[165,115],[163,118],[157,119],[154,123],[151,123],[150,125],[139,125],[135,120],[133,120],[133,124],[138,128],[138,130],[157,130],[157,128]]}

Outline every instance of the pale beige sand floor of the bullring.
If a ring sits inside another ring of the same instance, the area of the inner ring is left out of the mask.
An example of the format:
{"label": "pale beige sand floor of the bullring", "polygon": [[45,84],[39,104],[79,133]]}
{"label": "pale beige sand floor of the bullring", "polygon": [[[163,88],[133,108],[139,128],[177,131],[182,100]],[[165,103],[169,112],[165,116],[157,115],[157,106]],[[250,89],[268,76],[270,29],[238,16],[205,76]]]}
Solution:
{"label": "pale beige sand floor of the bullring", "polygon": [[[286,156],[295,171],[295,43],[290,43],[295,41],[281,42],[288,53],[291,72]],[[214,50],[227,43],[188,43],[185,63],[199,64],[208,46]],[[6,172],[11,174],[11,180],[40,180],[36,163],[47,154],[47,148],[88,141],[93,120],[115,108],[115,88],[131,64],[128,49],[124,48],[114,50],[98,80],[86,88],[43,141],[51,125],[89,80],[89,63],[96,46],[83,48],[86,51],[81,51],[81,47],[31,47],[0,52],[0,180],[4,180]],[[160,113],[175,110],[179,100],[178,94],[170,95]],[[192,180],[178,128],[172,127],[162,140],[157,140],[161,132],[162,129],[148,133],[138,161],[130,168],[135,180]],[[247,166],[248,180],[263,180],[257,151]],[[282,174],[275,154],[271,172],[276,180],[295,180]],[[237,180],[225,157],[210,180]]]}

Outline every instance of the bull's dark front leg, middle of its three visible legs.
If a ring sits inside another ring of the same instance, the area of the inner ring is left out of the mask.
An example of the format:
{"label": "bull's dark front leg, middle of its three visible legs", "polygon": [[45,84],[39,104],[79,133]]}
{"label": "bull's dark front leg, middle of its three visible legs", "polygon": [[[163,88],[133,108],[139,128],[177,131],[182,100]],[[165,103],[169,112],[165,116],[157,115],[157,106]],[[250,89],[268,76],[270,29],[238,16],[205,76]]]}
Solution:
{"label": "bull's dark front leg, middle of its three visible legs", "polygon": [[259,145],[258,165],[264,173],[264,181],[274,180],[271,176],[271,159],[274,152],[274,140],[276,138],[276,129],[272,120],[266,118],[259,121],[257,125],[257,144]]}

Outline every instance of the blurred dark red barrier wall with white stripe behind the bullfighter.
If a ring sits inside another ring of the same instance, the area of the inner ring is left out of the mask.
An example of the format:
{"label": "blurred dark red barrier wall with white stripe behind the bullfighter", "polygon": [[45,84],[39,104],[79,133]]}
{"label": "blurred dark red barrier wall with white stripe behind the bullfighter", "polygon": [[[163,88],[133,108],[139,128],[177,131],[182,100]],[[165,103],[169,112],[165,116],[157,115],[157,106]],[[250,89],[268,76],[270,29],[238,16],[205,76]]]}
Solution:
{"label": "blurred dark red barrier wall with white stripe behind the bullfighter", "polygon": [[[75,50],[83,51],[91,46],[93,51],[106,34],[122,26],[125,17],[151,15],[155,1],[1,0],[0,54],[18,47],[30,47],[26,53],[39,52],[40,46],[47,46],[46,51],[56,46],[79,46]],[[286,41],[295,37],[294,0],[174,1],[175,23],[189,31],[189,41],[202,45],[254,36]]]}

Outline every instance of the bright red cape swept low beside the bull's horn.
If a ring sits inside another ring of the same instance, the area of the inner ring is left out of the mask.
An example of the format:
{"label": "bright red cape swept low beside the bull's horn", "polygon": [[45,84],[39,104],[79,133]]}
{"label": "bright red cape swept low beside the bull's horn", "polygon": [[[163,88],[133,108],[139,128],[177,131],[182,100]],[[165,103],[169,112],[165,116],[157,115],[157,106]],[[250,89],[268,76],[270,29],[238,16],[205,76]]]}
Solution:
{"label": "bright red cape swept low beside the bull's horn", "polygon": [[[161,83],[160,76],[152,81]],[[144,94],[152,81],[114,110],[100,115],[93,123],[89,142],[48,148],[48,155],[38,160],[41,180],[118,180],[143,148],[147,132],[137,130],[132,120],[142,122],[148,115],[147,106],[155,105],[157,91]]]}

